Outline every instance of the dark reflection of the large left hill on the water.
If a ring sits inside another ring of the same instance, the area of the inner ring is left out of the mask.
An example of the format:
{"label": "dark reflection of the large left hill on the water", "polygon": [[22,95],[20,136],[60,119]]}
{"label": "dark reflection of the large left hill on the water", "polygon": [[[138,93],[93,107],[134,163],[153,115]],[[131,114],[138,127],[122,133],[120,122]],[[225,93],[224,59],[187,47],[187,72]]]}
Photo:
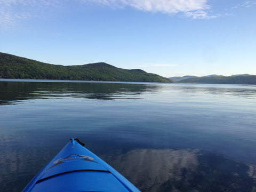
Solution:
{"label": "dark reflection of the large left hill on the water", "polygon": [[156,85],[127,83],[0,82],[0,105],[12,105],[27,99],[85,98],[99,100],[141,99]]}

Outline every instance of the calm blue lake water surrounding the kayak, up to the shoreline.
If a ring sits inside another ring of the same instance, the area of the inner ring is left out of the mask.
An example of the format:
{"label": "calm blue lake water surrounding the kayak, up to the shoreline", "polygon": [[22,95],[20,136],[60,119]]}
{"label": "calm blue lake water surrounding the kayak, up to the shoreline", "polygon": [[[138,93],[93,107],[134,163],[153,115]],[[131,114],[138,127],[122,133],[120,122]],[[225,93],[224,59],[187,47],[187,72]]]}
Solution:
{"label": "calm blue lake water surrounding the kayak, up to the shoreline", "polygon": [[0,79],[0,191],[70,138],[141,191],[256,191],[256,86]]}

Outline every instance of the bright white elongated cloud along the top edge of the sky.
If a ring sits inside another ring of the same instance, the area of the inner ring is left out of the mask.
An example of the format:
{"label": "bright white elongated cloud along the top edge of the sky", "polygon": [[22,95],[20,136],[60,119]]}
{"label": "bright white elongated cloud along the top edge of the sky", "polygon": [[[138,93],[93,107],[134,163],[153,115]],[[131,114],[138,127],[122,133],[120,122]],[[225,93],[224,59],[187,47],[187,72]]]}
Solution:
{"label": "bright white elongated cloud along the top edge of the sky", "polygon": [[[85,1],[85,0],[80,0]],[[87,2],[88,0],[86,0]],[[209,15],[206,10],[211,7],[207,0],[89,0],[91,2],[114,7],[130,6],[146,12],[161,12],[165,14],[180,14],[191,19],[211,19],[216,15]]]}

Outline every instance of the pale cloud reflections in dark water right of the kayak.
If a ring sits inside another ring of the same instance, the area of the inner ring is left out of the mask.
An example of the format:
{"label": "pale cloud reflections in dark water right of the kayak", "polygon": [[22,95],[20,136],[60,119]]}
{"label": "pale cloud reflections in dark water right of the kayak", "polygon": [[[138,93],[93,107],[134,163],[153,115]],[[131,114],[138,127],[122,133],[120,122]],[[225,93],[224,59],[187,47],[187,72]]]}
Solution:
{"label": "pale cloud reflections in dark water right of the kayak", "polygon": [[141,191],[254,191],[255,165],[200,149],[135,149],[103,156]]}

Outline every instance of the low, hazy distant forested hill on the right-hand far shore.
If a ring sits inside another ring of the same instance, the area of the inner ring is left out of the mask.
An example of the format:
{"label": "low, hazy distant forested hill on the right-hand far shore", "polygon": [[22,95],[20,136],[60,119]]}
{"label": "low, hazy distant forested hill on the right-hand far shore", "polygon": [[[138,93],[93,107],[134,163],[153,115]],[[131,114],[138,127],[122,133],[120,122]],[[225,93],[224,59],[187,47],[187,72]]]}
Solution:
{"label": "low, hazy distant forested hill on the right-hand far shore", "polygon": [[212,84],[252,84],[256,85],[256,75],[233,75],[187,78],[177,83],[212,83]]}

